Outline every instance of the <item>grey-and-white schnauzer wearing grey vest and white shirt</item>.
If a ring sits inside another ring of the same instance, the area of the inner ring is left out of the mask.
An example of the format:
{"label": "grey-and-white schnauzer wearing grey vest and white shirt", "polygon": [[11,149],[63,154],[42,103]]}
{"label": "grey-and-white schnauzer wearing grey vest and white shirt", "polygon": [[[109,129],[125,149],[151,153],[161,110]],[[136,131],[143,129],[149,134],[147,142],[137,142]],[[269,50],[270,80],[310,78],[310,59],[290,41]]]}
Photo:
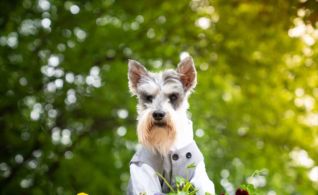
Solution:
{"label": "grey-and-white schnauzer wearing grey vest and white shirt", "polygon": [[188,119],[188,97],[197,84],[197,72],[191,56],[184,58],[176,70],[153,73],[135,60],[128,62],[129,89],[137,96],[137,136],[142,147],[130,161],[127,195],[146,192],[169,193],[170,189],[154,172],[159,172],[173,190],[175,175],[187,178],[197,195],[214,195],[203,155],[193,140],[192,121]]}

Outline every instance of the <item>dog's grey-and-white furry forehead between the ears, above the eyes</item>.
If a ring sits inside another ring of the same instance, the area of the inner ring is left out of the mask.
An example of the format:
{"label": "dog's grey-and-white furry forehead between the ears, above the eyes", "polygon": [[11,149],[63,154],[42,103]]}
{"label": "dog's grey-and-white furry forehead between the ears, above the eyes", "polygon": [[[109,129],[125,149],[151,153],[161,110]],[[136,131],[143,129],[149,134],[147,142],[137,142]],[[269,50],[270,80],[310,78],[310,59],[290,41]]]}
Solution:
{"label": "dog's grey-and-white furry forehead between the ears, above the eyes", "polygon": [[150,72],[148,76],[143,79],[143,82],[138,86],[138,90],[147,94],[170,94],[177,91],[183,91],[184,86],[181,83],[179,74],[168,69],[163,72]]}

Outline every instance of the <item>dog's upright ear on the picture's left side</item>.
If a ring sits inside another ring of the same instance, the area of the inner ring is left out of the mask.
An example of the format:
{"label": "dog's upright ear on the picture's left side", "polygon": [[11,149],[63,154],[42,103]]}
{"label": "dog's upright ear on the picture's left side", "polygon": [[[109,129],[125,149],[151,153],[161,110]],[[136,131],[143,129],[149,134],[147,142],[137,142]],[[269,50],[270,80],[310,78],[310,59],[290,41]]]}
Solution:
{"label": "dog's upright ear on the picture's left side", "polygon": [[141,82],[142,76],[148,76],[148,71],[138,61],[132,59],[129,59],[128,61],[129,89],[133,95],[136,95],[137,85]]}

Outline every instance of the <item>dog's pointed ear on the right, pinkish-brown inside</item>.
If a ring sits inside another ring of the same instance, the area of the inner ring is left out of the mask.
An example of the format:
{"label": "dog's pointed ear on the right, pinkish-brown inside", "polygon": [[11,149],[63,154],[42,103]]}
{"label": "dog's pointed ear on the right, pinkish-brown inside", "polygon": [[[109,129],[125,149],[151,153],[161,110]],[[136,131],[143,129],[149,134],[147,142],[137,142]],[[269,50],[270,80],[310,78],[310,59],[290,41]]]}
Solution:
{"label": "dog's pointed ear on the right, pinkish-brown inside", "polygon": [[180,74],[181,83],[185,86],[187,92],[195,88],[197,85],[197,71],[191,56],[184,58],[178,64],[176,72]]}

